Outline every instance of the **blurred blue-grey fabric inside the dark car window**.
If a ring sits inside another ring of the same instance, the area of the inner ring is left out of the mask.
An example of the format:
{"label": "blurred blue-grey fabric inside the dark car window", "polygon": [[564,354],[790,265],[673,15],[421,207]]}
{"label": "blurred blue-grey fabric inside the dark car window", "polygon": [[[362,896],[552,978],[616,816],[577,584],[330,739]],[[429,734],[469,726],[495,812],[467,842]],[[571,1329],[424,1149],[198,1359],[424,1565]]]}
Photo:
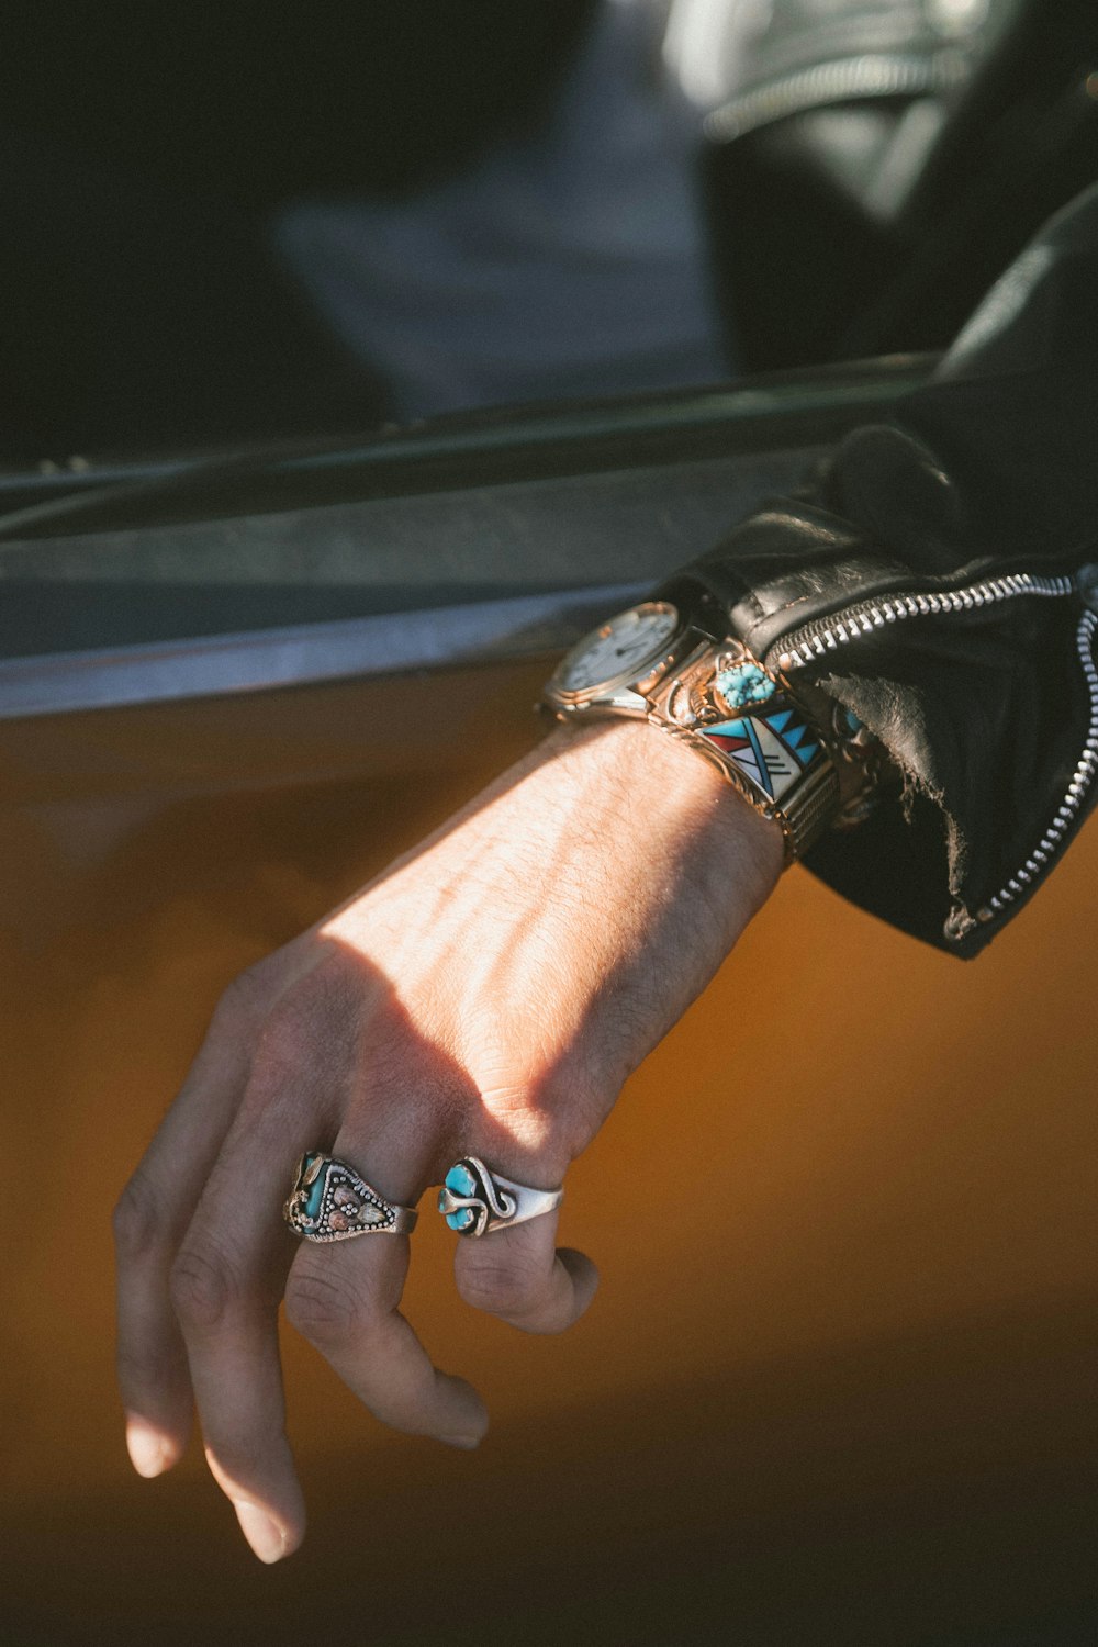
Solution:
{"label": "blurred blue-grey fabric inside the dark car window", "polygon": [[400,418],[728,377],[698,130],[654,15],[607,0],[542,128],[405,201],[300,199],[283,267]]}

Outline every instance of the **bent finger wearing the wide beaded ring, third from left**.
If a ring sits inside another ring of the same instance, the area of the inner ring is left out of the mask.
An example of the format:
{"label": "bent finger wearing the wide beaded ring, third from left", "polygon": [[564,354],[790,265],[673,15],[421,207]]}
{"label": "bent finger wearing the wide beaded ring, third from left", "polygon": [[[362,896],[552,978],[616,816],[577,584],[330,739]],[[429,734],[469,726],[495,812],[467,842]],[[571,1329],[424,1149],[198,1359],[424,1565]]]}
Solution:
{"label": "bent finger wearing the wide beaded ring, third from left", "polygon": [[[400,1123],[369,1140],[346,1131],[333,1153],[387,1201],[408,1206],[428,1179],[428,1164],[407,1131]],[[303,1242],[286,1283],[286,1314],[382,1423],[472,1448],[487,1428],[487,1411],[464,1379],[431,1364],[400,1314],[408,1260],[407,1237]]]}

